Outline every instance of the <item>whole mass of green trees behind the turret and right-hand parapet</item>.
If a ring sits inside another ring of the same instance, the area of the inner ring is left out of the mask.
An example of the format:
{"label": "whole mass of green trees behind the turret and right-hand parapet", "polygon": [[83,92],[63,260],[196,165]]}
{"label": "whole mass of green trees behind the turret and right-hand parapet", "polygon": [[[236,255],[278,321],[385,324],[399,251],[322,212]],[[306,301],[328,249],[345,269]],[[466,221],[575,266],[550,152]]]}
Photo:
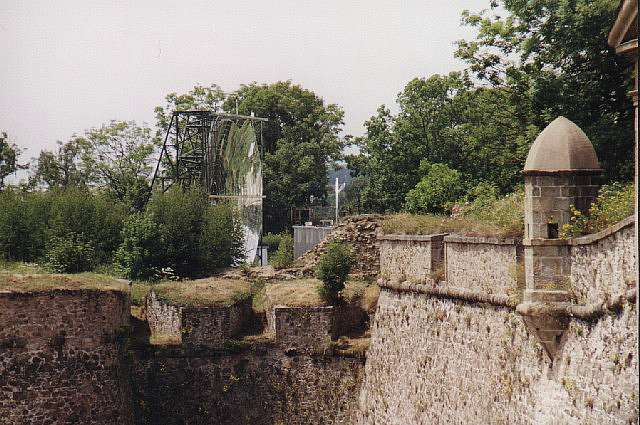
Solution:
{"label": "whole mass of green trees behind the turret and right-hand parapet", "polygon": [[381,106],[354,140],[360,153],[348,164],[363,184],[363,209],[441,212],[437,203],[416,208],[426,193],[422,161],[459,172],[466,191],[490,183],[510,193],[530,144],[559,115],[589,136],[605,179],[630,179],[631,73],[606,44],[618,3],[505,0],[465,12],[477,36],[460,41],[456,55],[469,69],[413,79],[398,95],[399,112]]}

